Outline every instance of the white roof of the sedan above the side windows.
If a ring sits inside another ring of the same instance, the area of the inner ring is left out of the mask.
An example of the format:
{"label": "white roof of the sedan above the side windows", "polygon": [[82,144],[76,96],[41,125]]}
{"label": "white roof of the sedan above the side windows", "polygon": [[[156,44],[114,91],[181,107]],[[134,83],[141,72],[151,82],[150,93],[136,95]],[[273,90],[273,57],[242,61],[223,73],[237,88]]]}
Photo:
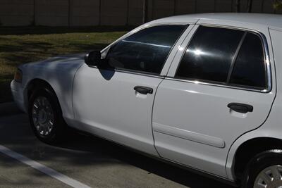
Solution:
{"label": "white roof of the sedan above the side windows", "polygon": [[224,20],[224,21],[236,21],[240,23],[255,23],[260,25],[268,25],[271,27],[282,28],[282,15],[266,14],[266,13],[202,13],[202,14],[188,14],[188,15],[176,15],[168,18],[161,18],[155,20],[155,23],[178,23],[183,20],[195,19],[197,20]]}

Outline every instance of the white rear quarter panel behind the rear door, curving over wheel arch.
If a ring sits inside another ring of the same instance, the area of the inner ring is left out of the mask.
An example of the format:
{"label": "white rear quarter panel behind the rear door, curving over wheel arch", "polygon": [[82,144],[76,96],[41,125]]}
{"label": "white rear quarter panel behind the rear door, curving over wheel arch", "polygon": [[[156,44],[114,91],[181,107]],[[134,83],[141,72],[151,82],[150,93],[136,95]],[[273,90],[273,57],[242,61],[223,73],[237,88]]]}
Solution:
{"label": "white rear quarter panel behind the rear door, curving over wheel arch", "polygon": [[235,179],[233,172],[233,165],[235,163],[234,157],[238,147],[241,144],[257,137],[271,137],[282,139],[282,30],[279,28],[270,27],[267,40],[269,42],[269,54],[272,70],[272,91],[275,91],[274,89],[276,89],[276,98],[272,104],[269,117],[266,119],[265,123],[256,130],[252,130],[243,134],[241,137],[236,139],[236,141],[231,146],[226,161],[226,172],[229,179],[232,180]]}

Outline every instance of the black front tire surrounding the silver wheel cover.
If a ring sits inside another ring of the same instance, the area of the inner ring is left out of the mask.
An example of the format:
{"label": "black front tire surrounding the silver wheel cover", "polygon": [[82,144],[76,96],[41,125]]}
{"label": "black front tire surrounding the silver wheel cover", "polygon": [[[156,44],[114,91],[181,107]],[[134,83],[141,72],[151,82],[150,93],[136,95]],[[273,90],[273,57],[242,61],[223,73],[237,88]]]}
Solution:
{"label": "black front tire surrounding the silver wheel cover", "polygon": [[[38,97],[45,97],[51,105],[51,110],[54,112],[53,128],[48,135],[39,134],[33,122],[32,106],[35,102],[35,99],[38,99]],[[28,104],[28,115],[30,118],[30,126],[32,128],[32,131],[35,133],[35,136],[39,140],[47,144],[57,144],[63,141],[64,137],[66,136],[67,126],[65,121],[63,120],[61,106],[59,105],[56,94],[54,94],[54,92],[49,89],[49,87],[37,88],[35,92],[32,92]],[[65,135],[63,135],[63,133],[65,133]]]}

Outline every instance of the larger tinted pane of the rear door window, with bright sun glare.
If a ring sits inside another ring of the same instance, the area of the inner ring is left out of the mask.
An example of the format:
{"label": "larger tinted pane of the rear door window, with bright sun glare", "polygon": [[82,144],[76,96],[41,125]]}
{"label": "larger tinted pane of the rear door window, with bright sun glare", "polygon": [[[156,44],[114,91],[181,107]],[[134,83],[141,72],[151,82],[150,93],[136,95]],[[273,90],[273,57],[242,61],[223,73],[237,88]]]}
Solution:
{"label": "larger tinted pane of the rear door window, with bright sun glare", "polygon": [[226,82],[243,31],[199,27],[180,62],[176,77]]}

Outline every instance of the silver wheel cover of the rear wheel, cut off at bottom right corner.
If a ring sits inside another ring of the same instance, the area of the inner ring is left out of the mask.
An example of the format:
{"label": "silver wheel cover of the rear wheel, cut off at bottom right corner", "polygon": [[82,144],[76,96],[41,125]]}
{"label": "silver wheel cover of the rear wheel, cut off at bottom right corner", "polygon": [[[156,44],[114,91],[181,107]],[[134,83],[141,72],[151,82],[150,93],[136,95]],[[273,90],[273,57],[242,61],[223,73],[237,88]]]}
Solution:
{"label": "silver wheel cover of the rear wheel, cut off at bottom right corner", "polygon": [[282,188],[282,165],[271,165],[257,175],[254,188]]}

